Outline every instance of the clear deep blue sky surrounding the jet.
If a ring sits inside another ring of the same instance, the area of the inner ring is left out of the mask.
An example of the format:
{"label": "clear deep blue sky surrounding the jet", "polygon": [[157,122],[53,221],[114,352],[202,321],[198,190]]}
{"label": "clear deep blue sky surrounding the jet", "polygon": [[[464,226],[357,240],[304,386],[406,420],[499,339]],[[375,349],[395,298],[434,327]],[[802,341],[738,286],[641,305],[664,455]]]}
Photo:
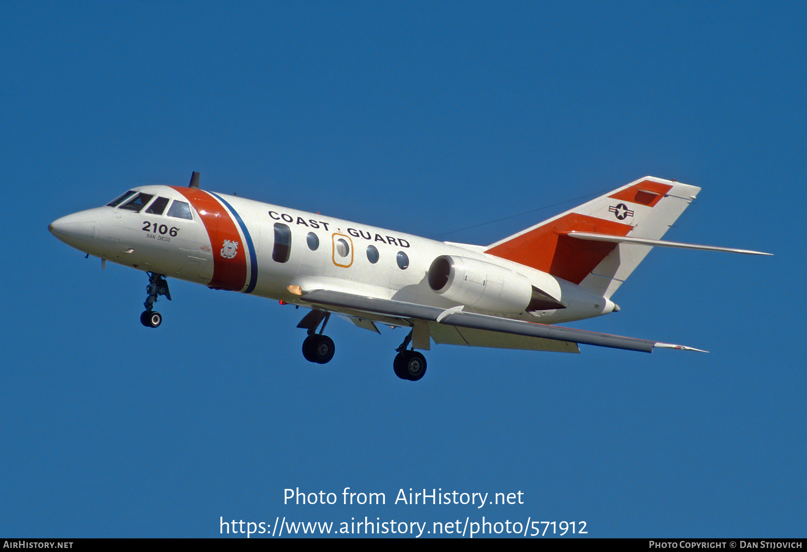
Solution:
{"label": "clear deep blue sky surrounding the jet", "polygon": [[[805,15],[5,2],[0,534],[484,516],[803,537]],[[332,320],[336,356],[314,366],[303,310],[178,280],[144,328],[146,276],[47,231],[193,170],[208,190],[476,244],[649,174],[703,188],[668,239],[775,257],[654,250],[621,312],[571,324],[709,354],[439,345],[408,383],[391,368],[402,329]],[[283,504],[296,487],[387,504]],[[410,487],[524,504],[392,504]]]}

